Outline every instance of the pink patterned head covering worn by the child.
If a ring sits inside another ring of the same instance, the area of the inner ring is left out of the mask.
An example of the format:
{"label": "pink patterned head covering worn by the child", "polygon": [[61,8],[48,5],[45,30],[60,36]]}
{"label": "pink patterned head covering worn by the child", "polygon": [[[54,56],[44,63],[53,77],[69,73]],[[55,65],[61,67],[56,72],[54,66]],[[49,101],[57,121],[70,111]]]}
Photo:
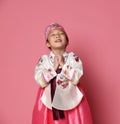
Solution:
{"label": "pink patterned head covering worn by the child", "polygon": [[[47,39],[48,39],[49,33],[50,33],[52,30],[57,30],[57,29],[61,29],[61,30],[63,30],[63,31],[65,32],[64,28],[63,28],[61,25],[59,25],[58,23],[52,23],[52,24],[50,24],[50,25],[48,25],[48,26],[46,27],[46,29],[45,29],[45,39],[46,39],[46,41],[47,41]],[[66,32],[65,32],[65,34],[66,34]],[[67,34],[66,34],[66,36],[67,36]],[[67,37],[67,38],[68,38],[68,37]]]}

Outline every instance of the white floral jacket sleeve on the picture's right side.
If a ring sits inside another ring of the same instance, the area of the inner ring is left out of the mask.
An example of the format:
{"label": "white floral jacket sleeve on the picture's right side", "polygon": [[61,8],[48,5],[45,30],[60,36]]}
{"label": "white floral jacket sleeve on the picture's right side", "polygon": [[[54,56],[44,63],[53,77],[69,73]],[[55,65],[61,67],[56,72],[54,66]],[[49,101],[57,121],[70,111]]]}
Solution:
{"label": "white floral jacket sleeve on the picture's right side", "polygon": [[63,81],[65,78],[76,85],[83,75],[83,66],[80,58],[74,53],[69,53],[68,59],[58,75],[58,80]]}

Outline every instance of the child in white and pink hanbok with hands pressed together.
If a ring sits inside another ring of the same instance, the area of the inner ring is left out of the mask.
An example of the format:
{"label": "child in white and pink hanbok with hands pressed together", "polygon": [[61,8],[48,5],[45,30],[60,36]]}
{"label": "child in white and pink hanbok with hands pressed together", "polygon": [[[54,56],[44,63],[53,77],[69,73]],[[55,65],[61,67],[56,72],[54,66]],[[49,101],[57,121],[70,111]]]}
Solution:
{"label": "child in white and pink hanbok with hands pressed together", "polygon": [[49,55],[43,55],[35,68],[40,85],[32,124],[92,124],[85,94],[77,84],[83,75],[82,62],[66,52],[69,39],[64,28],[50,24],[45,31]]}

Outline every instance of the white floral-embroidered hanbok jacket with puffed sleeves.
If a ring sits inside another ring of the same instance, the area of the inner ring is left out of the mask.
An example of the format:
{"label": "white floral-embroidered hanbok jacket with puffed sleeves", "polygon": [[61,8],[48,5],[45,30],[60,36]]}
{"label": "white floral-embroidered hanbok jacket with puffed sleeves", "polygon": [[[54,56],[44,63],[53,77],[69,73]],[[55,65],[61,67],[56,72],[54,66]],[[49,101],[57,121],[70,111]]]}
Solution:
{"label": "white floral-embroidered hanbok jacket with puffed sleeves", "polygon": [[[83,75],[83,67],[80,58],[73,52],[63,54],[65,64],[57,74],[53,68],[54,54],[43,55],[35,68],[35,80],[45,88],[41,100],[51,109],[70,110],[75,108],[82,100],[83,94],[77,87],[80,77]],[[51,102],[51,79],[56,77],[56,90]],[[61,83],[59,83],[61,82]]]}

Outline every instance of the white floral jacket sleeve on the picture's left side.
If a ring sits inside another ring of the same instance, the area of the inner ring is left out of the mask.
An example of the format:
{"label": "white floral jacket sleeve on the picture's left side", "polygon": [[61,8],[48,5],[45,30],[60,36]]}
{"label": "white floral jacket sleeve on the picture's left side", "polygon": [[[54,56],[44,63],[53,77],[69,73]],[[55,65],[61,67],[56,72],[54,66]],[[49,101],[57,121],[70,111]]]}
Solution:
{"label": "white floral jacket sleeve on the picture's left side", "polygon": [[41,87],[46,87],[49,84],[49,81],[53,79],[56,75],[57,73],[51,66],[48,60],[48,56],[42,56],[35,67],[36,82],[40,84]]}

